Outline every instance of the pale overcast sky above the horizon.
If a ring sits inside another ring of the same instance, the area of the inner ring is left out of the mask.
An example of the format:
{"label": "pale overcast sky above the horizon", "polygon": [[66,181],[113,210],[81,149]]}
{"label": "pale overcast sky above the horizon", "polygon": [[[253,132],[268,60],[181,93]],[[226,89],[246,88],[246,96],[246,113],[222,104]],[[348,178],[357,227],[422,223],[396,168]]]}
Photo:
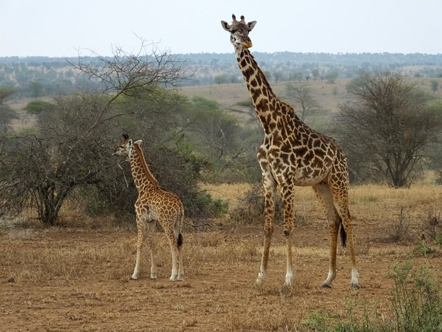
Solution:
{"label": "pale overcast sky above the horizon", "polygon": [[233,53],[232,14],[252,52],[442,53],[442,0],[0,0],[0,57]]}

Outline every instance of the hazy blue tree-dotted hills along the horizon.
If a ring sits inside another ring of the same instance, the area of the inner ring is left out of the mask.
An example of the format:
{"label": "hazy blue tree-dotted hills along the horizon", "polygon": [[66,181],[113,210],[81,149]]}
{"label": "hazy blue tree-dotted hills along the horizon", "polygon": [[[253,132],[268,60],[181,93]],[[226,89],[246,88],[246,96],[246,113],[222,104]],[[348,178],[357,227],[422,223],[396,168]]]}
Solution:
{"label": "hazy blue tree-dotted hills along the horizon", "polygon": [[[397,71],[410,77],[442,77],[442,54],[402,53],[253,53],[270,81],[331,80],[356,77],[361,71]],[[242,82],[236,57],[231,53],[173,55],[193,73],[182,86],[237,84]],[[112,57],[106,57],[112,59]],[[21,97],[32,96],[31,85],[41,84],[43,95],[70,93],[77,72],[69,62],[77,57],[0,57],[0,87],[13,86]],[[96,57],[81,57],[97,61]]]}

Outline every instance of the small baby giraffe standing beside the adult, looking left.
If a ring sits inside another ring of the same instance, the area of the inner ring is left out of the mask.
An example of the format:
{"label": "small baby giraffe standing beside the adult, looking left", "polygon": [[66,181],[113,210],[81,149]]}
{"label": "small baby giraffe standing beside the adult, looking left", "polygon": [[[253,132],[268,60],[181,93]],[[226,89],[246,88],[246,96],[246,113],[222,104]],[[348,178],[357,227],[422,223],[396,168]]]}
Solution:
{"label": "small baby giraffe standing beside the adult, looking left", "polygon": [[145,237],[146,226],[148,248],[151,252],[151,279],[157,279],[157,264],[155,261],[155,226],[160,223],[169,240],[172,254],[172,273],[169,280],[181,281],[184,277],[182,266],[182,223],[184,207],[180,198],[160,188],[157,179],[147,167],[141,149],[141,140],[133,142],[125,133],[124,141],[115,149],[113,154],[127,155],[131,161],[133,182],[138,190],[138,199],[135,202],[137,214],[137,261],[131,279],[138,279],[140,273],[140,256]]}

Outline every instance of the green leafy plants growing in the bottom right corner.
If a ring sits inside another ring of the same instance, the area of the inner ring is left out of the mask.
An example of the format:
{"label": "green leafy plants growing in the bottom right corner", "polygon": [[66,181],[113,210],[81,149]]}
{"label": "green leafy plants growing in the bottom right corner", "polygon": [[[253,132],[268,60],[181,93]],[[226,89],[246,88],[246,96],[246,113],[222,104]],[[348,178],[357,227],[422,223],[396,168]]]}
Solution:
{"label": "green leafy plants growing in the bottom right corner", "polygon": [[442,331],[441,285],[427,266],[413,269],[412,261],[394,264],[387,277],[394,282],[388,309],[392,320],[381,317],[377,302],[367,306],[365,302],[350,301],[345,319],[331,313],[313,313],[305,326],[320,332]]}

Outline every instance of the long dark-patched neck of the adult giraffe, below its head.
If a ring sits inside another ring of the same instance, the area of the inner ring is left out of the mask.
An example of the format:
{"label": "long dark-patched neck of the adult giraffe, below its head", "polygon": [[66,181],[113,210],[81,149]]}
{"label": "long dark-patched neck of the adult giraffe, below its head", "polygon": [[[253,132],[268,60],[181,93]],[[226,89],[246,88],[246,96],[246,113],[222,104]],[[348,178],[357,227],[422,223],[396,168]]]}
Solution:
{"label": "long dark-patched neck of the adult giraffe, below its head", "polygon": [[247,89],[249,89],[253,106],[265,133],[269,135],[276,129],[277,119],[282,116],[283,110],[285,110],[285,115],[297,118],[294,108],[279,100],[273,93],[267,78],[250,51],[237,48],[235,53],[238,66],[244,76]]}

